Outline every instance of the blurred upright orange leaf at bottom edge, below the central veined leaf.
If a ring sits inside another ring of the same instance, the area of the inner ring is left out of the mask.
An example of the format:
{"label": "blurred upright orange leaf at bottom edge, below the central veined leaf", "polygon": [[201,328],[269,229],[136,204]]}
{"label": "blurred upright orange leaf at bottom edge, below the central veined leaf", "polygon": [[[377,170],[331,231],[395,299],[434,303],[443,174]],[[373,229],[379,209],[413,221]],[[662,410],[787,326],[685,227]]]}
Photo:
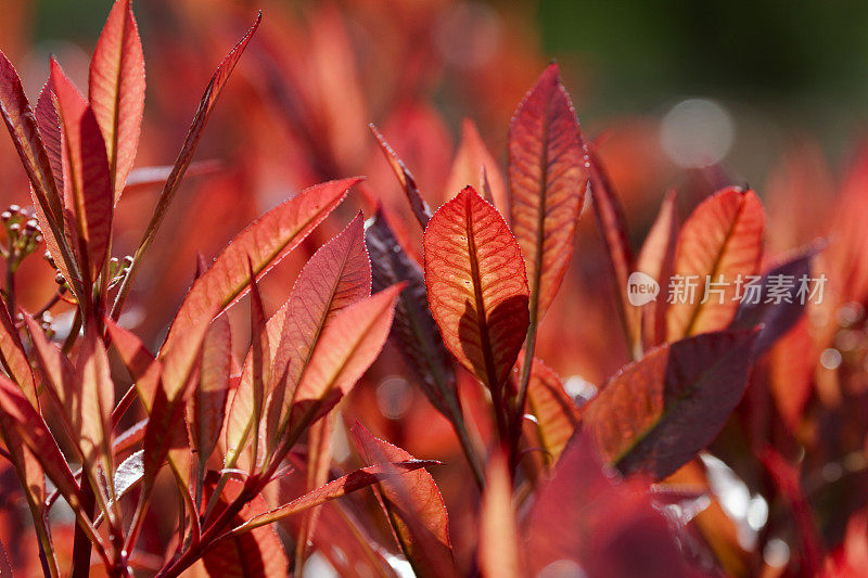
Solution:
{"label": "blurred upright orange leaf at bottom edge, below the central veined leaf", "polygon": [[488,462],[480,519],[480,570],[485,578],[519,578],[521,549],[515,510],[512,506],[512,476],[506,458],[498,453]]}

